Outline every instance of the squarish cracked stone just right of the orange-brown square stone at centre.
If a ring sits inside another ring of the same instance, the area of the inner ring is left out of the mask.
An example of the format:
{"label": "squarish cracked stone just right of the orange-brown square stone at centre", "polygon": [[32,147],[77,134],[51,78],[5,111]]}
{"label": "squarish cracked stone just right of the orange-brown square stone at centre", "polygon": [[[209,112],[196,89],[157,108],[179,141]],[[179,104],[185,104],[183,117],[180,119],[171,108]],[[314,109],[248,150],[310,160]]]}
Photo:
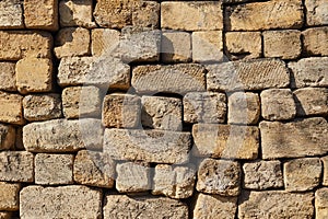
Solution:
{"label": "squarish cracked stone just right of the orange-brown square stone at centre", "polygon": [[183,129],[183,103],[179,99],[142,96],[142,126],[162,130]]}

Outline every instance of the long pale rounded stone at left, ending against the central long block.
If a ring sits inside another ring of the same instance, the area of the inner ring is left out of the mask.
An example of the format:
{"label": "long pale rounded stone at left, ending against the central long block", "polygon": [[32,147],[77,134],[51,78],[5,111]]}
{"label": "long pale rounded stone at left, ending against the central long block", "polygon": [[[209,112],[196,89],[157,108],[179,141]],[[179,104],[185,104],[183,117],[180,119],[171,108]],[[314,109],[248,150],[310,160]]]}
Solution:
{"label": "long pale rounded stone at left, ending against the central long block", "polygon": [[23,128],[27,151],[67,152],[83,148],[101,148],[103,129],[99,119],[54,119],[32,123]]}

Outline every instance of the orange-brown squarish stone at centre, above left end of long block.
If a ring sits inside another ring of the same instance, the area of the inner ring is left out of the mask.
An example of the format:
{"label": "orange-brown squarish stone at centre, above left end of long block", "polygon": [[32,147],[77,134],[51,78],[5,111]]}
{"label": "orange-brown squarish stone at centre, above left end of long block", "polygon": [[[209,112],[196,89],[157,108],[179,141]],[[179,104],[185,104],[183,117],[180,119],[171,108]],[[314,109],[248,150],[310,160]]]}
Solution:
{"label": "orange-brown squarish stone at centre, above left end of long block", "polygon": [[113,93],[103,102],[103,125],[116,128],[136,128],[140,125],[141,100],[137,95]]}

